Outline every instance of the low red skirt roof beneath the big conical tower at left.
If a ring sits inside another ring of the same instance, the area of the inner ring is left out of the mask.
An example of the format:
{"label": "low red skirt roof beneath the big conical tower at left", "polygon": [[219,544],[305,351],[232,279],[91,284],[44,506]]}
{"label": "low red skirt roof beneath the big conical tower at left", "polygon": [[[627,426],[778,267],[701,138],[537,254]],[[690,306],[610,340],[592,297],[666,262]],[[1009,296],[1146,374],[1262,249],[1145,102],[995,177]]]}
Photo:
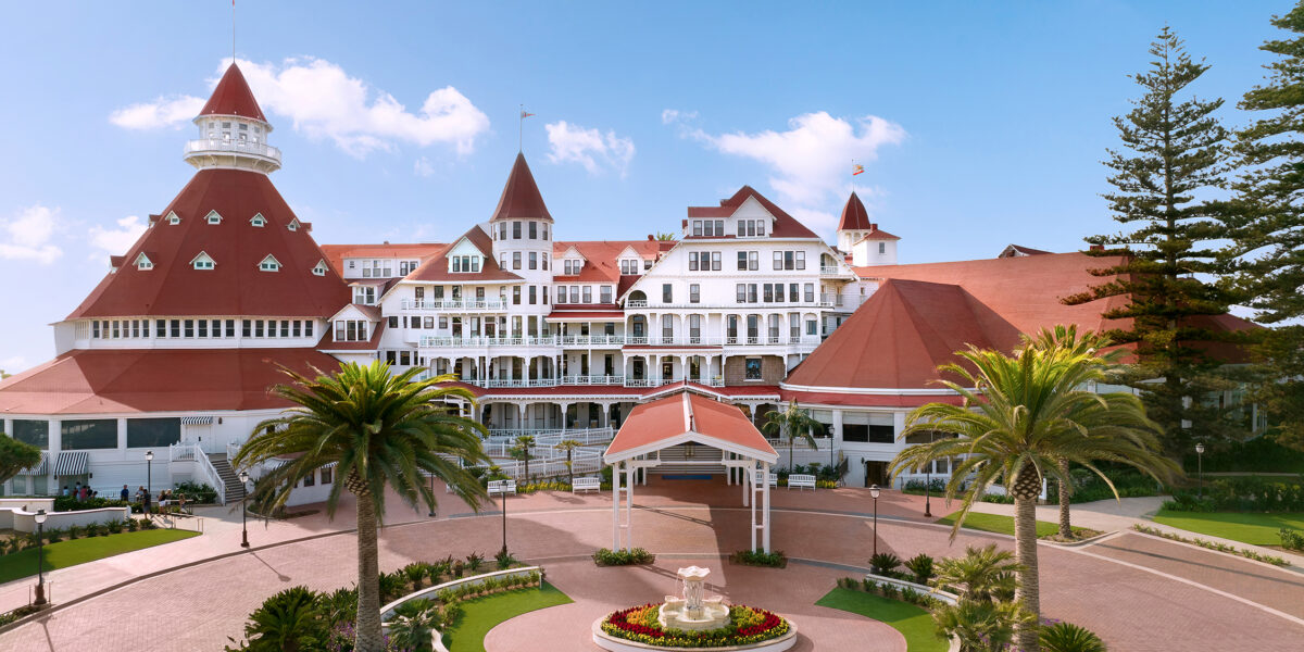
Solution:
{"label": "low red skirt roof beneath the big conical tower at left", "polygon": [[0,413],[96,415],[283,408],[267,393],[339,361],[312,348],[74,349],[0,381]]}

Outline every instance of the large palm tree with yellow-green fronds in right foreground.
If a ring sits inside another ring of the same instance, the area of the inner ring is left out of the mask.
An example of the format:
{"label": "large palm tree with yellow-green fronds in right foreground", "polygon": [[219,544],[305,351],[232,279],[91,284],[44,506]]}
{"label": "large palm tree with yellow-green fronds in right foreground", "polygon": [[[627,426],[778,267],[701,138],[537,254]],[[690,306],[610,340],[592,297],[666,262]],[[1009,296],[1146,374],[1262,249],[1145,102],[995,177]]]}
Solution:
{"label": "large palm tree with yellow-green fronds in right foreground", "polygon": [[[891,469],[917,468],[944,458],[957,460],[945,497],[953,499],[966,484],[968,489],[952,539],[974,501],[992,484],[1003,482],[1015,498],[1015,546],[1022,566],[1016,599],[1039,617],[1037,498],[1042,479],[1068,482],[1060,471],[1060,460],[1067,460],[1097,473],[1112,489],[1095,462],[1127,463],[1155,480],[1178,473],[1178,466],[1162,456],[1159,426],[1145,416],[1137,396],[1086,390],[1106,379],[1106,364],[1094,352],[1060,343],[1051,348],[1025,346],[1015,355],[970,346],[956,355],[966,364],[947,364],[939,370],[960,382],[939,382],[964,403],[922,406],[910,413],[900,434],[905,439],[936,430],[953,437],[908,446],[892,460]],[[1035,626],[1020,627],[1017,644],[1024,652],[1037,652]]]}

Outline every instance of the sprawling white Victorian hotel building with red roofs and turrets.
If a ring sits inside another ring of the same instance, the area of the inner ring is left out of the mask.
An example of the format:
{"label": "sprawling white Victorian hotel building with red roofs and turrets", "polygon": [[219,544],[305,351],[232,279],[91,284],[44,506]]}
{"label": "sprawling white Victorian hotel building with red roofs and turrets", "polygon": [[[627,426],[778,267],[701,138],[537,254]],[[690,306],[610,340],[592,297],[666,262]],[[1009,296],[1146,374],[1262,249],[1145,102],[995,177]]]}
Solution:
{"label": "sprawling white Victorian hotel building with red roofs and turrets", "polygon": [[273,125],[235,65],[194,123],[194,177],[55,325],[56,357],[0,382],[4,432],[44,450],[7,494],[149,475],[232,498],[227,454],[287,407],[266,391],[274,364],[376,359],[454,374],[501,434],[618,428],[678,391],[754,419],[795,400],[827,424],[798,463],[845,458],[849,484],[883,484],[905,415],[953,400],[932,383],[953,351],[1110,326],[1106,301],[1059,301],[1099,261],[1012,246],[896,265],[898,239],[854,194],[837,248],[750,186],[689,207],[675,240],[561,240],[523,155],[489,219],[450,243],[318,246],[269,179]]}

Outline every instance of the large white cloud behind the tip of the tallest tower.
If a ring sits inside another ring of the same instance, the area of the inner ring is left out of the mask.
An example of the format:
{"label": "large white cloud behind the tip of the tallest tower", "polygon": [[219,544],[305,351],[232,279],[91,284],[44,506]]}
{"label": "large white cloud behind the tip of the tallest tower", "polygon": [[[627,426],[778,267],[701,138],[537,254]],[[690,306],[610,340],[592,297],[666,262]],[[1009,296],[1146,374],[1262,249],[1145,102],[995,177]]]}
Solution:
{"label": "large white cloud behind the tip of the tallest tower", "polygon": [[[219,77],[228,64],[223,60]],[[476,138],[489,130],[489,117],[452,86],[430,91],[417,111],[408,111],[394,95],[372,89],[325,59],[286,59],[280,64],[241,60],[240,69],[265,112],[288,117],[296,130],[327,138],[357,158],[393,150],[396,143],[451,145],[459,155],[469,154]],[[215,86],[216,78],[211,83]],[[203,100],[193,96],[160,98],[115,111],[110,120],[133,129],[167,126],[193,119],[202,106]]]}

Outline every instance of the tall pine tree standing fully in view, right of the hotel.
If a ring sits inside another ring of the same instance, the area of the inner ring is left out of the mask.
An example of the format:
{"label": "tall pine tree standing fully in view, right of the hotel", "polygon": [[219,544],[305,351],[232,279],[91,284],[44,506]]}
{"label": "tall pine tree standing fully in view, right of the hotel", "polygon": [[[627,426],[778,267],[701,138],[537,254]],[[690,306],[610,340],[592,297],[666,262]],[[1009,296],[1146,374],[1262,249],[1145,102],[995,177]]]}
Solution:
{"label": "tall pine tree standing fully in view, right of the hotel", "polygon": [[1144,94],[1131,112],[1114,119],[1123,147],[1108,150],[1104,162],[1115,188],[1104,198],[1129,231],[1088,239],[1103,245],[1091,254],[1121,262],[1094,270],[1110,280],[1065,301],[1128,299],[1104,313],[1131,323],[1110,333],[1115,342],[1136,346],[1137,361],[1123,379],[1141,391],[1150,417],[1164,426],[1168,450],[1181,452],[1192,438],[1248,432],[1222,400],[1235,383],[1206,355],[1210,342],[1224,339],[1209,327],[1209,317],[1227,312],[1230,295],[1200,278],[1223,271],[1211,243],[1222,230],[1210,196],[1223,185],[1228,133],[1214,117],[1222,99],[1187,96],[1209,67],[1193,61],[1168,27],[1150,55],[1149,69],[1131,76]]}

